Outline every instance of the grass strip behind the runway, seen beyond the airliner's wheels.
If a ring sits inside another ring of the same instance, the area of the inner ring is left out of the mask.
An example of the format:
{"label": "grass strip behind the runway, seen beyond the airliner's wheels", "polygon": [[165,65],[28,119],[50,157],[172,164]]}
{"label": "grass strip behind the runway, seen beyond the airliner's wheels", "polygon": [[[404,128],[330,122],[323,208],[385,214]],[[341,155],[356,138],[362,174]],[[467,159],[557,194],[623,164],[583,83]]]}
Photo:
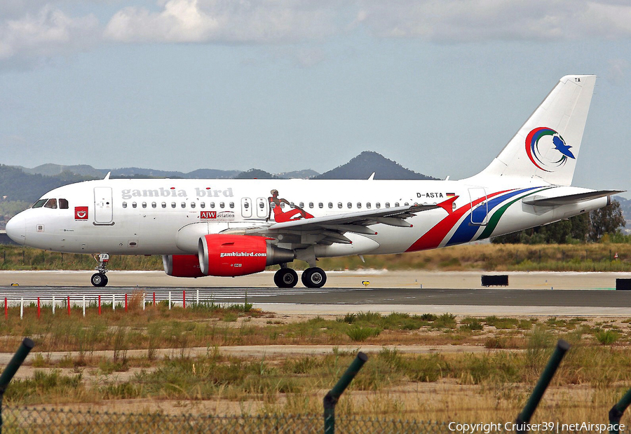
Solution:
{"label": "grass strip behind the runway, seen beyond the airliner's wheels", "polygon": [[[618,259],[614,256],[618,254]],[[405,255],[321,258],[325,270],[485,270],[485,271],[631,271],[631,243],[592,243],[572,245],[456,245],[446,249],[412,252]],[[90,255],[45,252],[39,249],[0,246],[3,270],[86,270],[95,261]],[[295,269],[307,264],[295,261]],[[113,256],[112,270],[162,270],[159,256]],[[272,266],[271,269],[278,269]]]}

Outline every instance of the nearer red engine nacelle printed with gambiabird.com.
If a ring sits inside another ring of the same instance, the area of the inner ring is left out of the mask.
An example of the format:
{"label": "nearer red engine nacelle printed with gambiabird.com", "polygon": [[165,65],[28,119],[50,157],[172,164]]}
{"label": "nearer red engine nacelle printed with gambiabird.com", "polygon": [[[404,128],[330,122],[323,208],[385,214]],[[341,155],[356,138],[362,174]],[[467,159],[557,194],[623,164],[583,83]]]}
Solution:
{"label": "nearer red engine nacelle printed with gambiabird.com", "polygon": [[262,236],[205,235],[199,238],[198,247],[199,266],[205,276],[245,276],[294,260],[293,250],[271,245]]}

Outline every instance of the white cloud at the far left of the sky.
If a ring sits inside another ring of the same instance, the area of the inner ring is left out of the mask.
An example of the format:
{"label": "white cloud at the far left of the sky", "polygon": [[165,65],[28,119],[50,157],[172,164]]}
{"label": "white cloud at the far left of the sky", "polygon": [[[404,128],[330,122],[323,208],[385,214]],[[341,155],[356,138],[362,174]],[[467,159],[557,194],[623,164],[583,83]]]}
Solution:
{"label": "white cloud at the far left of the sky", "polygon": [[0,21],[0,62],[23,62],[83,50],[99,39],[99,27],[94,15],[72,18],[50,6]]}

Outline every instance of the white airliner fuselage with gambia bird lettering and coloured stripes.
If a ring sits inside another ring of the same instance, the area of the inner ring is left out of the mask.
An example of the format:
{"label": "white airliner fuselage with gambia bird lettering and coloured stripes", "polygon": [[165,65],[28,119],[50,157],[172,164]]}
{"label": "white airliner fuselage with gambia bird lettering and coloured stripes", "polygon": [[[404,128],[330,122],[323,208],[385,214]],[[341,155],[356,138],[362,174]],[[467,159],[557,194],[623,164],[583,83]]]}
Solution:
{"label": "white airliner fuselage with gambia bird lettering and coloured stripes", "polygon": [[[533,181],[534,182],[534,181]],[[522,185],[518,185],[522,184]],[[271,191],[285,199],[270,210]],[[453,212],[442,208],[408,217],[412,227],[372,224],[376,234],[348,234],[353,243],[316,245],[316,257],[379,255],[468,243],[548,224],[606,205],[609,198],[561,206],[537,207],[524,198],[545,198],[591,191],[545,182],[524,184],[510,179],[489,185],[461,181],[378,181],[304,179],[102,179],[67,185],[42,199],[57,199],[29,208],[11,219],[11,238],[44,250],[114,255],[196,255],[198,239],[209,233],[236,233],[283,219],[299,206],[321,217],[437,204],[456,197]],[[67,208],[61,209],[65,199]],[[275,207],[276,208],[276,207]],[[287,217],[290,215],[290,217]],[[270,217],[269,222],[267,221]],[[273,240],[300,250],[309,240]],[[304,243],[303,243],[304,241]]]}

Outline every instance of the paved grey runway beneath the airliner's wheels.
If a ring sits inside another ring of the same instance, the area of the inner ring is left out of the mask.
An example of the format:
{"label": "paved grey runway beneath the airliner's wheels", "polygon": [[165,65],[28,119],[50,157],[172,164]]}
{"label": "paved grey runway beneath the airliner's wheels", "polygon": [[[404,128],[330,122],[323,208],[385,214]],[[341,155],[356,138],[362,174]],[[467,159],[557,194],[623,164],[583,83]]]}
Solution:
{"label": "paved grey runway beneath the airliner's wheels", "polygon": [[[153,302],[155,294],[156,302],[170,297],[173,304],[182,306],[185,292],[189,304],[198,300],[219,304],[247,301],[264,311],[287,314],[397,311],[477,316],[631,317],[631,292],[613,290],[615,279],[629,278],[628,273],[509,273],[509,287],[496,288],[481,287],[480,275],[479,272],[351,271],[329,273],[327,286],[313,290],[273,287],[272,273],[193,280],[170,278],[154,271],[111,271],[110,285],[96,288],[86,285],[88,272],[0,271],[0,299],[6,298],[15,305],[20,299],[27,304],[40,297],[42,304],[50,304],[54,296],[59,304],[70,297],[71,304],[81,305],[83,297],[89,304],[101,296],[102,302],[111,303],[114,299],[122,307],[125,294],[131,297],[140,292],[147,303]],[[10,286],[9,281],[19,286]],[[127,285],[112,285],[115,282]],[[367,286],[362,282],[367,282]],[[236,283],[246,285],[226,285]]]}

